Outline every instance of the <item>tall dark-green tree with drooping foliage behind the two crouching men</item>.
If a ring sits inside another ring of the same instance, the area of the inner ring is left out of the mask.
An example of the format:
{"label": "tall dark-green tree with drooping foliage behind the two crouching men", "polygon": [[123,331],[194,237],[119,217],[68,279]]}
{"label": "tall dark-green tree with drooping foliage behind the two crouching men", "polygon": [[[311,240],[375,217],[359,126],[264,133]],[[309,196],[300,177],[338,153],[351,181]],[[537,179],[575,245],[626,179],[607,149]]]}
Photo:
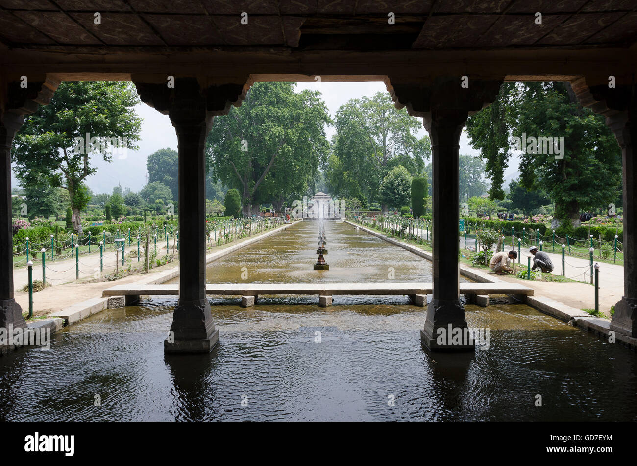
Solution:
{"label": "tall dark-green tree with drooping foliage behind the two crouching men", "polygon": [[571,230],[579,225],[580,210],[615,201],[622,181],[621,152],[604,117],[583,108],[569,83],[505,84],[501,115],[494,118],[486,108],[467,124],[472,145],[487,160],[492,198],[502,199],[498,166],[506,166],[512,151],[521,148],[519,184],[542,188],[555,202],[554,227]]}

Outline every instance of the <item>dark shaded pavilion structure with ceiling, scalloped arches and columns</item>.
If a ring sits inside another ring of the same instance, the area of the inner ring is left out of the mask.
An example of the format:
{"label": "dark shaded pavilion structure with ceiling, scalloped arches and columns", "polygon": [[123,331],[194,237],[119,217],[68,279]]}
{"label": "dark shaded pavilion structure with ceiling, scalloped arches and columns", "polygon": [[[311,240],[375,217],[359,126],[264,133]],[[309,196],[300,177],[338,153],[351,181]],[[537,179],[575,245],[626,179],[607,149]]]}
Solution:
{"label": "dark shaded pavilion structure with ceiling, scalloped arches and columns", "polygon": [[165,350],[205,352],[218,340],[204,260],[204,141],[212,119],[239,106],[256,81],[320,76],[384,81],[396,107],[421,116],[429,131],[436,241],[421,338],[432,350],[471,349],[435,341],[448,323],[466,327],[457,262],[466,118],[493,102],[505,80],[570,81],[584,106],[606,116],[622,149],[624,297],[611,328],[637,337],[636,39],[634,0],[0,0],[0,327],[25,325],[13,299],[11,143],[61,81],[132,81],[143,102],[170,117],[182,268],[175,341]]}

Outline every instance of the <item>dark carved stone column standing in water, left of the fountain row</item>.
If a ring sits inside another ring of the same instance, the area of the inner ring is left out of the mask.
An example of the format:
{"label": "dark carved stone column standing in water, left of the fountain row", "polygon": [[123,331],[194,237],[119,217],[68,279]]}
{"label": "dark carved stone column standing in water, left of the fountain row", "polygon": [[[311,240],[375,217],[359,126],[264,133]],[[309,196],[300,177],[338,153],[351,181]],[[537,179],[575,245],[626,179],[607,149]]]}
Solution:
{"label": "dark carved stone column standing in water, left of the fountain row", "polygon": [[166,84],[135,82],[141,100],[169,115],[179,152],[179,300],[166,353],[209,353],[218,341],[206,298],[206,136],[214,115],[245,95],[242,85],[202,88],[195,78]]}

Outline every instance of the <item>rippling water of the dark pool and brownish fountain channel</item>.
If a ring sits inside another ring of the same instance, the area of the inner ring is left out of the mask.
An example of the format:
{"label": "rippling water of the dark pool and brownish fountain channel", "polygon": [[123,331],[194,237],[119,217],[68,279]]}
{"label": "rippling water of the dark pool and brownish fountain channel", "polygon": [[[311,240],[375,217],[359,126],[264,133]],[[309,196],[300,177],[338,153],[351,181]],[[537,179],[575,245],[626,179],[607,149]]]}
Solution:
{"label": "rippling water of the dark pool and brownish fountain channel", "polygon": [[[431,280],[426,260],[343,223],[328,225],[331,270],[311,271],[316,236],[315,224],[295,225],[208,276],[238,282],[247,267],[248,281],[387,281],[394,267],[397,280]],[[334,302],[211,300],[220,344],[169,358],[173,298],[104,311],[50,351],[0,358],[0,419],[637,420],[636,353],[530,307],[466,306],[471,327],[490,328],[489,350],[445,355],[422,349],[425,311],[404,297]]]}

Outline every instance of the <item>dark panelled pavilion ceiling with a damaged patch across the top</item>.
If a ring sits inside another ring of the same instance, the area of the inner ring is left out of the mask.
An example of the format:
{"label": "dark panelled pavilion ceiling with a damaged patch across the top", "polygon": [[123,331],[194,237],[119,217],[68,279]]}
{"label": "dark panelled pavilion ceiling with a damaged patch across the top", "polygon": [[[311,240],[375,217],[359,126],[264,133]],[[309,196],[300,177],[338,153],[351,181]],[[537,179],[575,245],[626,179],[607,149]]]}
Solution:
{"label": "dark panelled pavilion ceiling with a damaged patch across the top", "polygon": [[636,39],[637,0],[0,0],[0,43],[13,50],[581,49]]}

